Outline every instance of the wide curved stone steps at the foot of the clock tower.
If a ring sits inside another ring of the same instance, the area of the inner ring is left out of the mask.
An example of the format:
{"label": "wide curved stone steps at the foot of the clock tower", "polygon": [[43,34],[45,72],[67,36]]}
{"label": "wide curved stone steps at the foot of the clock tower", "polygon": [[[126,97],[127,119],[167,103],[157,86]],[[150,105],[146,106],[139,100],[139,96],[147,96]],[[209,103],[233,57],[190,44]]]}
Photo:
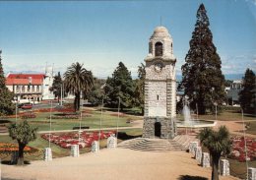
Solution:
{"label": "wide curved stone steps at the foot of the clock tower", "polygon": [[118,144],[118,148],[142,151],[187,150],[173,140],[136,138]]}

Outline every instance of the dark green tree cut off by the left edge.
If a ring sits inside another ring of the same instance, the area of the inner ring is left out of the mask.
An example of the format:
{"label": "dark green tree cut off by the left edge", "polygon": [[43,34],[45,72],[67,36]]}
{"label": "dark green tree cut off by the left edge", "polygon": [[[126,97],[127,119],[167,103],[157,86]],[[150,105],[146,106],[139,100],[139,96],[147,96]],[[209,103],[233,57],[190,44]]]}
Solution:
{"label": "dark green tree cut off by the left edge", "polygon": [[14,93],[7,89],[5,85],[4,70],[2,66],[2,51],[0,50],[0,116],[13,114],[15,105],[12,103]]}

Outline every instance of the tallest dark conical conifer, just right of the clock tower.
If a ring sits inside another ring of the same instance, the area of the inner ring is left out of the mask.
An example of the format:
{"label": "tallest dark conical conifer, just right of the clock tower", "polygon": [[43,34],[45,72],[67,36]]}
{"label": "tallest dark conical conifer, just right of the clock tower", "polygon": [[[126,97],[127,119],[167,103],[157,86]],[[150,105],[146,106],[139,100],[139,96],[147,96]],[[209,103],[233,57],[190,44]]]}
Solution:
{"label": "tallest dark conical conifer, just right of the clock tower", "polygon": [[188,96],[190,106],[195,109],[198,104],[199,114],[213,110],[214,103],[224,101],[224,75],[222,62],[217,48],[213,43],[213,34],[209,29],[210,23],[203,4],[197,11],[197,22],[190,49],[182,69],[181,86]]}

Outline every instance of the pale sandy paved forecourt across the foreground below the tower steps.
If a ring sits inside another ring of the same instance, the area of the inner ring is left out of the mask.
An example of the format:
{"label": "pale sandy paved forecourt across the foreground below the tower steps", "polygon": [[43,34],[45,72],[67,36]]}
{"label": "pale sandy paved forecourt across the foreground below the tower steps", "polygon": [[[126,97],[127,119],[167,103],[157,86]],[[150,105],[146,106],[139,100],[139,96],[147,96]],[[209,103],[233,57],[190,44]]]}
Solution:
{"label": "pale sandy paved forecourt across the foreground below the tower steps", "polygon": [[[105,149],[50,162],[32,161],[24,167],[2,165],[2,177],[26,180],[174,180],[185,176],[211,179],[211,168],[199,166],[188,152],[124,149]],[[236,178],[228,176],[220,180]]]}

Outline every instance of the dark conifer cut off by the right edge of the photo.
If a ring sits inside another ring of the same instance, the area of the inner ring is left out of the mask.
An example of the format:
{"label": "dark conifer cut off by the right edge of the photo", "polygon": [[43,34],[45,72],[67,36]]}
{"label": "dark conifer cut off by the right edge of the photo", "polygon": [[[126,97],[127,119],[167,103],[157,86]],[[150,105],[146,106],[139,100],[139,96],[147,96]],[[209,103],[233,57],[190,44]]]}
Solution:
{"label": "dark conifer cut off by the right edge of the photo", "polygon": [[247,69],[243,77],[242,90],[239,92],[239,102],[246,113],[255,113],[256,78],[252,70]]}

